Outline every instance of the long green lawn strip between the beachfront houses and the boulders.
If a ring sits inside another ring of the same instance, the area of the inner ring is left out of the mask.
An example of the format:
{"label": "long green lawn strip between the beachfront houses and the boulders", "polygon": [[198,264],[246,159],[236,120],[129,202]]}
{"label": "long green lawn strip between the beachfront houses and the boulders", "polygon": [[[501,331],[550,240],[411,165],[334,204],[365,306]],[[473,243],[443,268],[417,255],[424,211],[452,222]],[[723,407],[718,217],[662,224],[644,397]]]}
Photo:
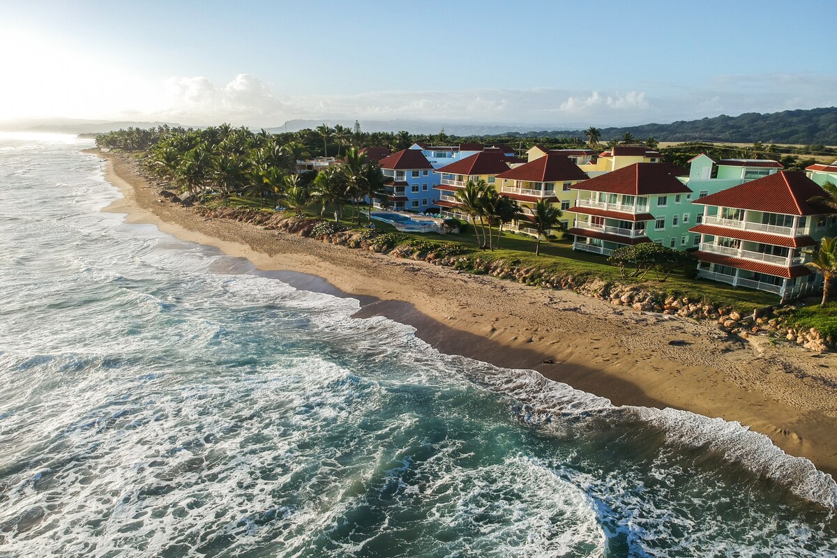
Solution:
{"label": "long green lawn strip between the beachfront houses and the boulders", "polygon": [[[213,202],[220,205],[220,202]],[[209,204],[208,204],[209,205]],[[258,198],[230,197],[229,207],[249,207],[259,209],[261,202]],[[212,207],[210,205],[210,207]],[[272,211],[272,207],[266,207]],[[343,218],[340,223],[349,228],[365,227],[368,224],[366,207],[362,207],[360,223],[352,223],[352,206],[343,206]],[[333,218],[334,209],[326,207],[326,218]],[[319,207],[310,207],[306,216],[319,218]],[[397,229],[389,223],[375,221],[375,228],[383,233],[393,233]],[[496,229],[494,231],[496,234]],[[778,304],[776,294],[766,293],[760,290],[733,287],[732,285],[716,283],[706,279],[691,279],[686,277],[682,270],[670,274],[665,282],[655,280],[649,274],[644,280],[636,278],[623,278],[619,269],[608,264],[607,257],[596,253],[573,251],[573,243],[569,239],[556,241],[542,241],[541,254],[535,255],[537,241],[528,235],[504,231],[500,239],[500,248],[493,251],[480,250],[480,243],[474,233],[473,227],[469,226],[465,233],[460,234],[439,234],[439,233],[402,233],[404,238],[427,239],[441,242],[460,243],[467,248],[467,254],[472,257],[479,257],[483,261],[506,260],[510,264],[519,267],[530,267],[542,269],[544,274],[573,275],[577,279],[605,279],[619,281],[624,284],[639,284],[645,289],[664,292],[675,296],[688,296],[701,302],[711,303],[719,306],[731,306],[736,310],[750,314],[756,308]],[[814,327],[814,326],[811,326]]]}

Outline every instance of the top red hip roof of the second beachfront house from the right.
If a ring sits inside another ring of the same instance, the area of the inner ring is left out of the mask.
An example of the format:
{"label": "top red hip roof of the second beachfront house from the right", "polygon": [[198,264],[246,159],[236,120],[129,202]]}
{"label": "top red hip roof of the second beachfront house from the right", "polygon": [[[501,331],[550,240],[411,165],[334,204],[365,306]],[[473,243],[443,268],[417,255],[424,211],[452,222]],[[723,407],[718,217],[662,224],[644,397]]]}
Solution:
{"label": "top red hip roof of the second beachfront house from the right", "polygon": [[685,168],[671,163],[634,163],[577,184],[573,190],[630,196],[689,193],[691,189],[677,179],[686,174]]}

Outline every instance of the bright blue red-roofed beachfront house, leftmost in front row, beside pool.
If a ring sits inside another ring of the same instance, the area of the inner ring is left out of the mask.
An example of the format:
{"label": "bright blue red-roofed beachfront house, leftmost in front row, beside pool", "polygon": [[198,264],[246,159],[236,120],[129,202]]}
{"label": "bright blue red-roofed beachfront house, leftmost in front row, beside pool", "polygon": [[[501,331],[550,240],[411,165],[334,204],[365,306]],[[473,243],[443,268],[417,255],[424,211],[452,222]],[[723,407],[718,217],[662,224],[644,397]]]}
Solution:
{"label": "bright blue red-roofed beachfront house, leftmost in front row, beside pool", "polygon": [[386,200],[375,198],[375,207],[394,207],[421,212],[436,206],[439,176],[420,149],[403,149],[378,161],[389,183]]}

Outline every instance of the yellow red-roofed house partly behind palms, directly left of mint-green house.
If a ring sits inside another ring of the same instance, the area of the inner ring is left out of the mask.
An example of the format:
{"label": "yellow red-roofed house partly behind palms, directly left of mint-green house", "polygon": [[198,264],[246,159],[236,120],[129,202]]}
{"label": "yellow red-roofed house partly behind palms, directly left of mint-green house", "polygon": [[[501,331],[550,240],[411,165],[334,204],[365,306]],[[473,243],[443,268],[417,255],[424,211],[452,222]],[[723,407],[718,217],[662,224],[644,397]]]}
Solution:
{"label": "yellow red-roofed house partly behind palms, directly left of mint-green house", "polygon": [[523,211],[523,217],[506,228],[537,237],[537,231],[531,227],[531,215],[541,200],[560,207],[564,228],[569,228],[575,218],[569,212],[576,197],[573,187],[587,179],[584,171],[559,151],[547,151],[544,156],[501,172],[495,177],[495,186],[502,196],[517,200]]}

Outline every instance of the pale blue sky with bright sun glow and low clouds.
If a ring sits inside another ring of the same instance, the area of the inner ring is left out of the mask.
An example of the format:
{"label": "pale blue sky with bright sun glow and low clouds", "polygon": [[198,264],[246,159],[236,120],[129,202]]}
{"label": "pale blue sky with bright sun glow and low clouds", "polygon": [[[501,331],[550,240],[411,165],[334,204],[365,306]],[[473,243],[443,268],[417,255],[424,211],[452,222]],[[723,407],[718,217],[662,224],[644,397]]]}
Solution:
{"label": "pale blue sky with bright sun glow and low clouds", "polygon": [[0,1],[0,122],[536,129],[837,105],[834,0]]}

